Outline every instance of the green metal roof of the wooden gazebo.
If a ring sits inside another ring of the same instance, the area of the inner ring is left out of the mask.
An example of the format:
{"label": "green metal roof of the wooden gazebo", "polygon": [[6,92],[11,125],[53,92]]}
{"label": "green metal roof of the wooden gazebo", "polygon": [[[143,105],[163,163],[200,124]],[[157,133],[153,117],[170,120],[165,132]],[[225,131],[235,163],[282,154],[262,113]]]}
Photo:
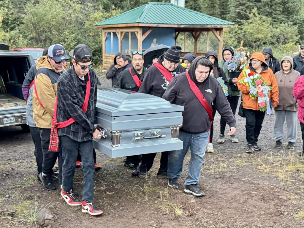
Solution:
{"label": "green metal roof of the wooden gazebo", "polygon": [[186,9],[172,3],[149,2],[127,12],[106,19],[95,26],[120,24],[165,24],[181,26],[233,26],[216,17]]}

